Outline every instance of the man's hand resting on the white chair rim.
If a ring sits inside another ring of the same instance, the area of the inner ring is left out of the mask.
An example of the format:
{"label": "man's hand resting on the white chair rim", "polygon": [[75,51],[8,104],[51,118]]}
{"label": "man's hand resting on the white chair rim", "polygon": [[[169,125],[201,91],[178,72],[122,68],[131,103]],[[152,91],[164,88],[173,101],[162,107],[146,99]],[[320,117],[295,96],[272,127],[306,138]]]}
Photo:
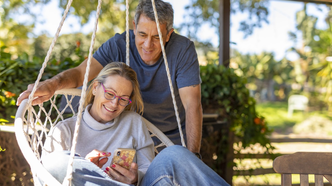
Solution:
{"label": "man's hand resting on the white chair rim", "polygon": [[[52,82],[51,79],[42,81],[38,83],[37,90],[35,92],[35,100],[32,101],[32,105],[38,105],[45,101],[48,101],[52,98],[54,95],[54,92],[57,88],[57,86],[54,84],[55,82]],[[28,90],[24,91],[22,94],[20,94],[20,97],[17,99],[16,105],[19,106],[24,99],[29,98],[29,95],[31,94],[32,90],[34,89],[35,83],[28,85]]]}

